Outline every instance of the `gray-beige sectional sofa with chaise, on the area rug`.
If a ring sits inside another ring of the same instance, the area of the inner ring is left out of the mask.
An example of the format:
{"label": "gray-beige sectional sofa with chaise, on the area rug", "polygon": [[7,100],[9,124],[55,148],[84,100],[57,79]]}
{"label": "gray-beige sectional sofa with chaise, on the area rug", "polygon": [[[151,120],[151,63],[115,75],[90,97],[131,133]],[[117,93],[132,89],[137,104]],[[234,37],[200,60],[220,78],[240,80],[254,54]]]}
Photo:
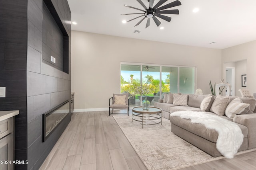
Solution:
{"label": "gray-beige sectional sofa with chaise, on the area rug", "polygon": [[[163,103],[164,99],[159,99],[158,102],[154,103],[154,106],[160,107],[162,109],[163,117],[170,119],[170,122],[172,123],[172,132],[174,134],[188,141],[204,152],[207,152],[211,156],[216,157],[221,156],[221,154],[216,149],[218,133],[215,130],[207,129],[204,125],[198,123],[191,123],[189,119],[182,119],[178,116],[170,116],[170,114],[175,111],[202,111],[200,106],[204,98],[207,96],[209,95],[189,94],[187,106],[177,106],[173,103]],[[231,102],[238,97],[228,98]],[[256,100],[254,98],[240,99],[242,103],[250,104],[250,110],[247,114],[234,115],[233,119],[228,118],[226,115],[221,116],[224,119],[235,122],[240,127],[242,134],[244,135],[244,141],[238,151],[256,148]],[[211,111],[206,111],[205,113],[216,115]]]}

